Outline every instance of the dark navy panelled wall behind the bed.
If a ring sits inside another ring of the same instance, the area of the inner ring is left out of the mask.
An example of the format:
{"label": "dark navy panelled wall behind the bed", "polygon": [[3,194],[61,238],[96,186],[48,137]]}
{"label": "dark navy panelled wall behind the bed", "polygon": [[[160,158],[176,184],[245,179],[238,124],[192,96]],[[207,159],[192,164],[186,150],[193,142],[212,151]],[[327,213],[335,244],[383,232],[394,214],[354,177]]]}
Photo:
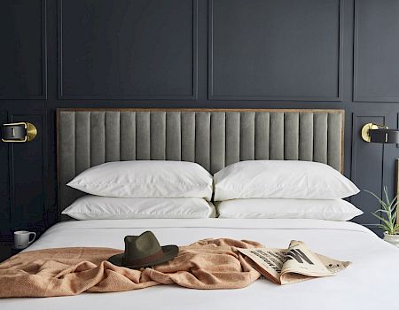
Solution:
{"label": "dark navy panelled wall behind the bed", "polygon": [[[395,188],[395,145],[364,143],[365,122],[396,128],[395,0],[3,0],[0,121],[39,136],[0,143],[0,233],[56,219],[58,107],[340,108],[345,174]],[[375,222],[377,205],[352,198]]]}

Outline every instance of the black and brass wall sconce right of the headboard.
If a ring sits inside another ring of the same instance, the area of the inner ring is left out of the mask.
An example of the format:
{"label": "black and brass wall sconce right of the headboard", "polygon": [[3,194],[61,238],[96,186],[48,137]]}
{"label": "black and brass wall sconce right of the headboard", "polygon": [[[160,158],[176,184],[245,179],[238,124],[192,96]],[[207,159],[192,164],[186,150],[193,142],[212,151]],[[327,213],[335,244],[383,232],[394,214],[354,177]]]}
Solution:
{"label": "black and brass wall sconce right of the headboard", "polygon": [[399,129],[389,129],[373,123],[364,124],[362,138],[365,142],[399,143]]}

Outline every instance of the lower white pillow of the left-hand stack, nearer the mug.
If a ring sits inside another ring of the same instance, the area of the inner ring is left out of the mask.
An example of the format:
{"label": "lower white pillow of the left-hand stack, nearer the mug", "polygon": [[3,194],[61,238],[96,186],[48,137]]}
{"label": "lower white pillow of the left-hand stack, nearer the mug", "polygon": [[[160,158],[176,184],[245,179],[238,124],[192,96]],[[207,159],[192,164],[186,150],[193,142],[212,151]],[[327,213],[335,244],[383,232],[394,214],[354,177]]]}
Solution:
{"label": "lower white pillow of the left-hand stack, nearer the mug", "polygon": [[83,196],[62,214],[76,220],[200,219],[215,217],[215,206],[203,198],[114,198]]}

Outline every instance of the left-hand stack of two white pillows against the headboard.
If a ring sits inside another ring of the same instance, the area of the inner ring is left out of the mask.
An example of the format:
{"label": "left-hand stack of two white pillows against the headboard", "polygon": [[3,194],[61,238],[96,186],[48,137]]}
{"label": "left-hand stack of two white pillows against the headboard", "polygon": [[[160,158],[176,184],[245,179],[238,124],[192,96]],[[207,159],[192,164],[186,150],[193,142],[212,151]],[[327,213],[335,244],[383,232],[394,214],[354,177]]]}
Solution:
{"label": "left-hand stack of two white pillows against the headboard", "polygon": [[77,220],[207,218],[215,214],[212,175],[185,161],[117,161],[91,167],[68,186],[90,195],[62,213]]}

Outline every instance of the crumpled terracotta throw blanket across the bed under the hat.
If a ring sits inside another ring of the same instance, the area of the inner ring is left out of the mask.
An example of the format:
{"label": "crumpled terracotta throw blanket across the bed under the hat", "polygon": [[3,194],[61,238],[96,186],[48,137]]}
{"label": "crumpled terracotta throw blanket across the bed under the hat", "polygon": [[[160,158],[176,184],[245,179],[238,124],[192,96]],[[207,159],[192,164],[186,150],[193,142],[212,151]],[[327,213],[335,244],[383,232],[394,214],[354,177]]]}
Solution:
{"label": "crumpled terracotta throw blanket across the bed under the hat", "polygon": [[23,252],[0,264],[0,298],[51,297],[83,291],[130,291],[157,284],[190,289],[239,289],[259,278],[239,248],[262,247],[252,241],[206,239],[180,247],[174,260],[133,270],[106,260],[121,250],[60,248]]}

